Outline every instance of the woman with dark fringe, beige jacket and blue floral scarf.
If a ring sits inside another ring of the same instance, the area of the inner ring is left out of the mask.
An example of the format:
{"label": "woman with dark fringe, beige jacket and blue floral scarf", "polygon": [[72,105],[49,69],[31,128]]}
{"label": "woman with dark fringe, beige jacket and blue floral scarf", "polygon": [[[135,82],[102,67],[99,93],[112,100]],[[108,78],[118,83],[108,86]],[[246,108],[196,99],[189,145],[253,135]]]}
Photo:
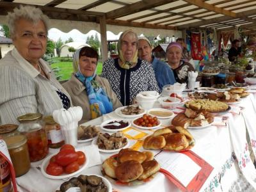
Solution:
{"label": "woman with dark fringe, beige jacket and blue floral scarf", "polygon": [[99,55],[91,47],[78,49],[74,54],[74,74],[63,84],[74,106],[83,108],[83,123],[110,113],[122,106],[109,86],[108,80],[97,76]]}

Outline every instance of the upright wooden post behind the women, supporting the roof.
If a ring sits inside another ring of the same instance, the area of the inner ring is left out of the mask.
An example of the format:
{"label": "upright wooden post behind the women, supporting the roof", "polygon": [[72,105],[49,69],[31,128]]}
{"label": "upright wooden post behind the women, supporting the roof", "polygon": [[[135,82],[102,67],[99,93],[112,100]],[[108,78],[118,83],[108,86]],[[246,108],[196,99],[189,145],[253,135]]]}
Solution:
{"label": "upright wooden post behind the women, supporting the roof", "polygon": [[108,59],[107,27],[105,15],[100,16],[100,43],[102,63],[104,63],[104,61]]}

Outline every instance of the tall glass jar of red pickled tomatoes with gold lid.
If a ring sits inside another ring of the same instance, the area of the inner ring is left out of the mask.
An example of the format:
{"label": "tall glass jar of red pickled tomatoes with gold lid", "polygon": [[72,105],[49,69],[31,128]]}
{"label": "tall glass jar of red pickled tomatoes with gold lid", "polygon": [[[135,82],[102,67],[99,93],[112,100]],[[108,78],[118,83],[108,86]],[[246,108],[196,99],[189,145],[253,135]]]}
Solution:
{"label": "tall glass jar of red pickled tomatoes with gold lid", "polygon": [[29,158],[31,162],[40,161],[48,154],[47,135],[42,121],[42,114],[28,113],[18,117],[18,131],[28,139]]}

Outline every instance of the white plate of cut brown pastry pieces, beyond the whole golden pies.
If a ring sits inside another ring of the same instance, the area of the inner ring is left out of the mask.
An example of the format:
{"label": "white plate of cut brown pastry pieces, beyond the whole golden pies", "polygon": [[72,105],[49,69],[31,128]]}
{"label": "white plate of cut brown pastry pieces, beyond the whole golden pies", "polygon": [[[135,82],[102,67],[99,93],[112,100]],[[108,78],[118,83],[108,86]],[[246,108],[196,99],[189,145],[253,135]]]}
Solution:
{"label": "white plate of cut brown pastry pieces, beyond the whole golden pies", "polygon": [[193,111],[187,108],[184,113],[179,113],[172,119],[173,126],[185,129],[204,129],[214,122],[214,115],[207,111]]}

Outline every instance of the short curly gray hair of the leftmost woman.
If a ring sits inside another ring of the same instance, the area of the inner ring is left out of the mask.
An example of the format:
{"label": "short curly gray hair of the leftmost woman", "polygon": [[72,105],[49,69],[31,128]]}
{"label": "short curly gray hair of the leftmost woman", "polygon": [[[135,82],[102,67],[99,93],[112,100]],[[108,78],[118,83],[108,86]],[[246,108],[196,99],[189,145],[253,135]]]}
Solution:
{"label": "short curly gray hair of the leftmost woman", "polygon": [[26,19],[33,22],[34,24],[42,20],[45,25],[46,33],[48,34],[49,17],[44,15],[42,10],[39,8],[35,8],[35,6],[20,6],[20,8],[15,8],[13,12],[9,12],[7,15],[10,35],[12,37],[15,35],[15,24],[19,19]]}

